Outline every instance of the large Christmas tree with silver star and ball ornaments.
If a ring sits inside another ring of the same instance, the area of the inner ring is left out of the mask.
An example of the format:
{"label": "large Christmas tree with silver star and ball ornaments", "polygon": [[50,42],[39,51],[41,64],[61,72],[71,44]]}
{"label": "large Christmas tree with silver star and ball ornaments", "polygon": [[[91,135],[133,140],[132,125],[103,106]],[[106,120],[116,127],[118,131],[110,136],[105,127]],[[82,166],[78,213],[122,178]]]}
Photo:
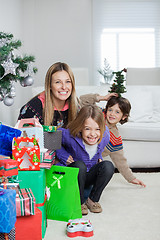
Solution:
{"label": "large Christmas tree with silver star and ball ornaments", "polygon": [[20,40],[13,40],[13,34],[0,32],[0,101],[7,106],[14,102],[14,82],[19,81],[22,87],[33,84],[32,74],[37,72],[31,63],[34,56],[14,56],[14,50],[22,46]]}

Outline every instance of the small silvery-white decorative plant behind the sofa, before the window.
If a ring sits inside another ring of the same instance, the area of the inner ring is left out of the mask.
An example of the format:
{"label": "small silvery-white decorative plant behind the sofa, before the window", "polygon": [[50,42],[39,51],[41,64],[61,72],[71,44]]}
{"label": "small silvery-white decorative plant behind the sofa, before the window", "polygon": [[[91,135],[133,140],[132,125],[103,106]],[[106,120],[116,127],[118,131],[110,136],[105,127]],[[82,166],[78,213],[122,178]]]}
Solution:
{"label": "small silvery-white decorative plant behind the sofa, before the window", "polygon": [[107,59],[104,59],[104,68],[98,69],[98,72],[103,76],[104,82],[109,84],[113,78],[113,70],[111,70],[111,67],[107,61]]}

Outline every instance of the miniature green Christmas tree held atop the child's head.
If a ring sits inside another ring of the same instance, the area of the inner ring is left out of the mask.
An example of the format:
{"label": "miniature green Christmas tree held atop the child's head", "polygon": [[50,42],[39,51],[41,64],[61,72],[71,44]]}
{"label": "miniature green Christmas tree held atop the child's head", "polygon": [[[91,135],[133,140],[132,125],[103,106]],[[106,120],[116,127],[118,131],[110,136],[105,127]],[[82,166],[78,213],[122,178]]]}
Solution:
{"label": "miniature green Christmas tree held atop the child's head", "polygon": [[119,97],[121,97],[122,93],[126,92],[126,88],[124,86],[125,78],[124,78],[123,72],[127,72],[127,69],[124,68],[121,71],[113,72],[113,74],[116,75],[115,80],[113,81],[114,83],[112,84],[112,86],[110,87],[110,90],[108,91],[110,93],[112,92],[118,93]]}

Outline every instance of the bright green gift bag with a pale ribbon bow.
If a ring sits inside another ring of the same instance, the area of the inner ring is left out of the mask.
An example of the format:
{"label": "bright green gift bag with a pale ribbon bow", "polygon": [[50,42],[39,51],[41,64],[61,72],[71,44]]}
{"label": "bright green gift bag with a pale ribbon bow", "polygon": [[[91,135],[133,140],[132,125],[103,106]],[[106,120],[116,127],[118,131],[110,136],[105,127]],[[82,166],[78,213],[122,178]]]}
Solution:
{"label": "bright green gift bag with a pale ribbon bow", "polygon": [[82,217],[78,168],[53,165],[46,170],[47,218],[68,221]]}

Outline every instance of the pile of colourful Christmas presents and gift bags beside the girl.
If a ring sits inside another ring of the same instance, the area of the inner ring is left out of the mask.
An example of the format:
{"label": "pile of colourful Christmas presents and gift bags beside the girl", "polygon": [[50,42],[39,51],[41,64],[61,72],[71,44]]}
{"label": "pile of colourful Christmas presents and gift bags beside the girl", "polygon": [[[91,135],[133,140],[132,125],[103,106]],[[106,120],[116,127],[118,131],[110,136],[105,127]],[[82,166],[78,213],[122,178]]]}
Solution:
{"label": "pile of colourful Christmas presents and gift bags beside the girl", "polygon": [[[55,126],[34,118],[14,128],[0,123],[0,239],[41,240],[47,219],[81,222],[79,170],[55,165],[61,138]],[[68,236],[77,236],[74,229],[83,235],[79,227],[67,229]]]}

